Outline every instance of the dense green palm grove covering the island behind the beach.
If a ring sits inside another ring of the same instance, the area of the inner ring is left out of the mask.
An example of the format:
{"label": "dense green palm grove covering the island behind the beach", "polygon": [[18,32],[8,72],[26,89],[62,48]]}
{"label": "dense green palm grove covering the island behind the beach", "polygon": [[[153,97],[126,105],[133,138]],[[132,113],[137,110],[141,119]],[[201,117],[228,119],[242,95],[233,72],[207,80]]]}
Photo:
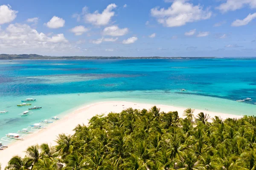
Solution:
{"label": "dense green palm grove covering the island behind the beach", "polygon": [[[31,146],[6,170],[255,170],[256,117],[222,120],[193,109],[96,115],[54,147]],[[63,165],[63,167],[62,167]]]}

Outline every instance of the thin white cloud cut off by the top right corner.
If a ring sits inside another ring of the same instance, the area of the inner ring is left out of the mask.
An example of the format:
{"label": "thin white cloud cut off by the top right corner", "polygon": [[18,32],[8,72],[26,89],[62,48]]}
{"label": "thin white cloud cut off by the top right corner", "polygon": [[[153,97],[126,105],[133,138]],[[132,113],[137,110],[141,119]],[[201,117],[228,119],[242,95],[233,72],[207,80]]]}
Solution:
{"label": "thin white cloud cut off by the top right corner", "polygon": [[216,7],[221,12],[235,11],[241,9],[244,6],[249,6],[250,8],[256,8],[256,0],[226,0],[220,6]]}

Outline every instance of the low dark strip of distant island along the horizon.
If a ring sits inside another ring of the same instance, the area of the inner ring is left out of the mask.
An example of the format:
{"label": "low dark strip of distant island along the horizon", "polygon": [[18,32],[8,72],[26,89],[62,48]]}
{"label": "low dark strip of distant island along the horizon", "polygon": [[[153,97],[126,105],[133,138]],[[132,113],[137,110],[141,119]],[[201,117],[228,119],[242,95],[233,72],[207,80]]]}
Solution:
{"label": "low dark strip of distant island along the horizon", "polygon": [[[37,54],[21,54],[21,55],[0,54],[0,60],[185,59],[185,58],[187,57],[157,57],[157,56],[156,57],[97,57],[97,56],[56,57],[56,56],[45,56],[45,55],[37,55]],[[195,57],[189,57],[189,58],[195,59]],[[201,58],[201,57],[196,57],[196,58]]]}

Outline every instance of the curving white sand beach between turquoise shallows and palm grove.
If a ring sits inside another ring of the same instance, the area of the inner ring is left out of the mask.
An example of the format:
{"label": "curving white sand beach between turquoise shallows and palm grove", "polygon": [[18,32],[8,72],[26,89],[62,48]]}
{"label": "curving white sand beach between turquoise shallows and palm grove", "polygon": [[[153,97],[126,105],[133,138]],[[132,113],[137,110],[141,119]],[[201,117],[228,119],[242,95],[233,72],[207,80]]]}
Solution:
{"label": "curving white sand beach between turquoise shallows and palm grove", "polygon": [[[108,114],[109,112],[121,112],[124,109],[132,107],[133,109],[150,109],[153,104],[140,104],[131,103],[125,101],[111,101],[111,102],[101,102],[96,104],[91,104],[87,106],[80,107],[74,110],[69,115],[64,116],[59,121],[55,121],[47,129],[39,130],[29,136],[26,136],[23,141],[16,141],[8,146],[6,150],[0,150],[0,163],[4,168],[12,156],[25,156],[25,150],[27,147],[35,144],[48,143],[55,145],[54,140],[56,136],[61,133],[73,134],[73,129],[78,124],[88,124],[88,119],[97,114]],[[183,111],[186,108],[172,107],[166,105],[156,105],[161,109],[161,111],[178,111],[179,116],[183,117]],[[229,115],[218,112],[209,112],[207,110],[195,109],[194,114],[197,115],[199,112],[204,112],[210,115],[211,118],[214,116],[220,116],[222,119],[226,118],[240,118],[238,115]],[[209,120],[210,121],[210,120]]]}

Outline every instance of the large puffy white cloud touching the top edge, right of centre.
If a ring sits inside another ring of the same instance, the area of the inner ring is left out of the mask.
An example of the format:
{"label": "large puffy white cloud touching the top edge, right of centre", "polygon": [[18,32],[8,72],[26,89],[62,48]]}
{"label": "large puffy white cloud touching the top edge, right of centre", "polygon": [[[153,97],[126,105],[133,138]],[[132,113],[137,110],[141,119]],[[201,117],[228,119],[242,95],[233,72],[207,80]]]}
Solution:
{"label": "large puffy white cloud touching the top edge, right of centre", "polygon": [[151,15],[156,17],[158,23],[163,24],[163,26],[175,27],[209,19],[212,12],[209,9],[203,10],[200,4],[194,6],[184,0],[175,0],[168,9],[159,9],[159,7],[151,9]]}

